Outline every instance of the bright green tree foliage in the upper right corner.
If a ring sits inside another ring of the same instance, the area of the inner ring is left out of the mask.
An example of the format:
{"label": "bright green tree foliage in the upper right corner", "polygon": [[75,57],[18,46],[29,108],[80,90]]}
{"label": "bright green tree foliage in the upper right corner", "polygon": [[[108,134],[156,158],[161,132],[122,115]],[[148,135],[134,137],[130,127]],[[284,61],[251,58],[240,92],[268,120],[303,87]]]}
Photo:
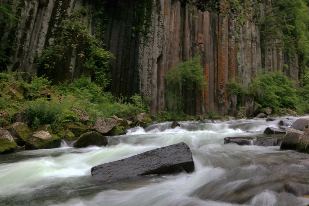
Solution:
{"label": "bright green tree foliage in the upper right corner", "polygon": [[297,56],[296,66],[304,73],[309,60],[309,2],[273,0],[271,3],[272,10],[261,21],[261,39],[264,45],[278,46],[287,53],[286,61],[292,62]]}

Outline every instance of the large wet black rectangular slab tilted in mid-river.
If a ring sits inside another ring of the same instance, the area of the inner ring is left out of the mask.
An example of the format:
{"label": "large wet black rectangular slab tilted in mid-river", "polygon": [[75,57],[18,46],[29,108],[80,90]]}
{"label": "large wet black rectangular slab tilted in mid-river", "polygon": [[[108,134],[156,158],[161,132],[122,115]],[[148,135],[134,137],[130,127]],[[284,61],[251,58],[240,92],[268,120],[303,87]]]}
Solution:
{"label": "large wet black rectangular slab tilted in mid-river", "polygon": [[94,180],[116,182],[138,179],[143,175],[192,172],[194,163],[188,145],[181,142],[153,149],[129,158],[91,168]]}

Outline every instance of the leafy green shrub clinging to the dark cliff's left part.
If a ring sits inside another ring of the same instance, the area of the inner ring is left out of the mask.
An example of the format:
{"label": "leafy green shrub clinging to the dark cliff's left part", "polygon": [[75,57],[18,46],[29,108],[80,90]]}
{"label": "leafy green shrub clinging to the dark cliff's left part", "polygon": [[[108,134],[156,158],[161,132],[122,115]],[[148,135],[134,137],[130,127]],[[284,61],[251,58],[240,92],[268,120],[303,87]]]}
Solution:
{"label": "leafy green shrub clinging to the dark cliff's left part", "polygon": [[83,8],[73,11],[69,19],[62,21],[60,35],[43,50],[37,66],[48,75],[57,77],[65,74],[71,58],[76,58],[76,62],[92,71],[94,82],[106,88],[110,81],[109,59],[113,55],[100,48],[99,41],[89,34],[82,23],[82,14]]}

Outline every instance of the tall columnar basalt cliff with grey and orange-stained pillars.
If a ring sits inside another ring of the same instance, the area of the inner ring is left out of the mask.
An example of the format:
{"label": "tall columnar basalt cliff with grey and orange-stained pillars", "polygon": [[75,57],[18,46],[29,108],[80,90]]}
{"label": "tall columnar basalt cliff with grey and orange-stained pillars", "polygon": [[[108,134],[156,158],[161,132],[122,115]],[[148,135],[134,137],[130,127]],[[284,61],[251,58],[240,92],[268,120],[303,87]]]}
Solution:
{"label": "tall columnar basalt cliff with grey and orange-stained pillars", "polygon": [[[165,93],[167,71],[196,53],[202,57],[208,86],[205,89],[197,87],[195,98],[187,102],[184,111],[190,115],[203,116],[210,110],[220,115],[227,114],[228,80],[239,77],[246,89],[252,76],[262,68],[262,63],[269,70],[280,71],[283,71],[282,65],[287,64],[285,74],[297,82],[297,68],[284,62],[287,58],[283,56],[286,54],[270,46],[272,42],[262,42],[265,44],[262,57],[256,16],[261,18],[264,11],[271,10],[269,2],[248,0],[249,6],[240,6],[244,12],[240,17],[230,1],[221,0],[218,4],[214,0],[149,1],[154,3],[151,18],[147,19],[151,25],[143,34],[135,27],[139,18],[139,0],[108,0],[105,20],[98,19],[90,1],[21,0],[18,5],[21,9],[16,13],[23,21],[19,21],[15,30],[5,27],[4,35],[0,36],[1,45],[14,37],[13,48],[17,51],[11,57],[11,69],[33,74],[37,72],[36,57],[40,57],[44,46],[53,44],[61,21],[83,6],[83,23],[116,57],[111,59],[112,81],[109,89],[113,94],[127,97],[135,93],[149,96],[152,114],[165,108],[171,109],[173,105]],[[207,2],[213,2],[218,9],[213,9]],[[103,24],[105,27],[102,27]],[[100,31],[98,28],[101,28]],[[83,69],[83,62],[76,60],[76,55],[69,56],[70,68],[63,76],[52,77],[54,80],[72,80],[82,73],[90,74],[90,71]],[[27,77],[26,73],[19,74]]]}

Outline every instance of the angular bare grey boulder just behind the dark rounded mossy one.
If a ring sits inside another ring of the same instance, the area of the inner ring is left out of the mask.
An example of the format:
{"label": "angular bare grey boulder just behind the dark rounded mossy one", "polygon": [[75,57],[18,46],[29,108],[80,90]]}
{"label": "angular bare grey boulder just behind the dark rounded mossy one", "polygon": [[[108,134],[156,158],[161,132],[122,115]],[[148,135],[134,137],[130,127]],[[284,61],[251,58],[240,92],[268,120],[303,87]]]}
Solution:
{"label": "angular bare grey boulder just behind the dark rounded mossy one", "polygon": [[117,121],[111,118],[97,117],[91,126],[91,130],[102,135],[108,134],[113,127],[117,126]]}

